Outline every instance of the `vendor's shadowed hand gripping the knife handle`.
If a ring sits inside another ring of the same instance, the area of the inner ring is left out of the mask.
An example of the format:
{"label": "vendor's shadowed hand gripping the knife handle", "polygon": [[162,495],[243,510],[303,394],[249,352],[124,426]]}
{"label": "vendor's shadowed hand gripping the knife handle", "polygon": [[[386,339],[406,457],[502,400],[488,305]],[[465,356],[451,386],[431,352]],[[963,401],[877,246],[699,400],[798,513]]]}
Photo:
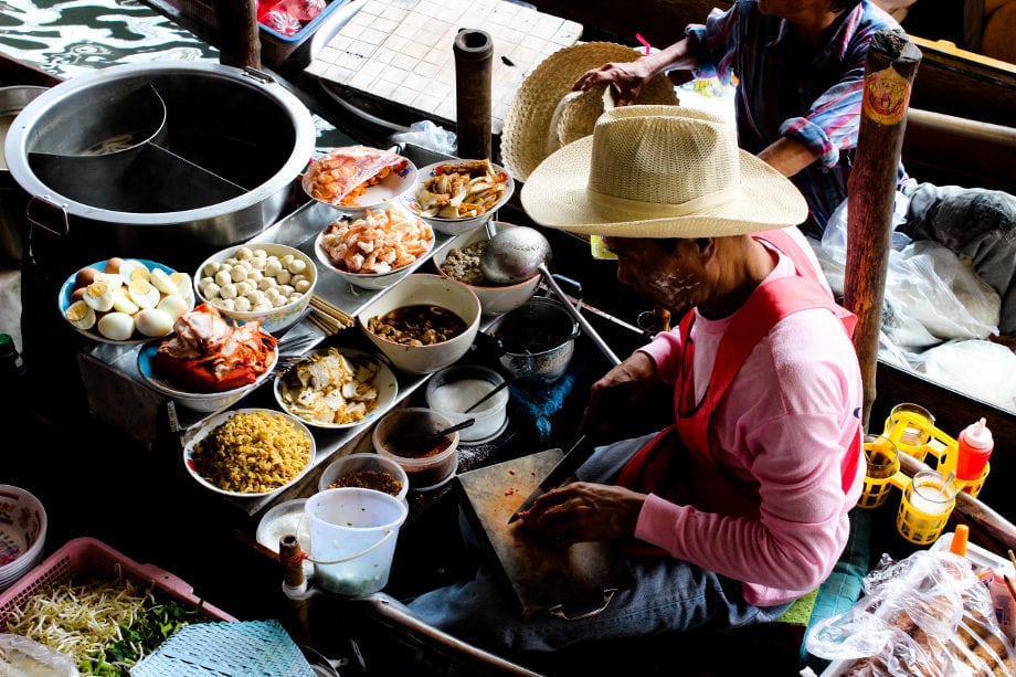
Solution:
{"label": "vendor's shadowed hand gripping the knife handle", "polygon": [[592,384],[579,431],[600,442],[613,440],[615,429],[631,427],[631,416],[655,383],[656,362],[636,350]]}

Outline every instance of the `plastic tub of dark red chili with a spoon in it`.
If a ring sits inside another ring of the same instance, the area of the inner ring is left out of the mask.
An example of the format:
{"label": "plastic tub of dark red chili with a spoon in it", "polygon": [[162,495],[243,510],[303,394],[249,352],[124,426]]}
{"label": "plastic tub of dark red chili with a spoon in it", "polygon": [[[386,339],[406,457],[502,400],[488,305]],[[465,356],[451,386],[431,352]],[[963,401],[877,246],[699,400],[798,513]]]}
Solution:
{"label": "plastic tub of dark red chili with a spoon in it", "polygon": [[[458,468],[458,433],[449,433],[443,441],[436,441],[433,447],[440,451],[424,451],[419,456],[402,455],[406,453],[403,449],[396,453],[390,443],[402,435],[436,433],[451,425],[446,416],[430,409],[396,409],[388,412],[374,426],[374,451],[402,466],[413,491],[436,489],[451,480]],[[447,446],[441,448],[445,444]]]}

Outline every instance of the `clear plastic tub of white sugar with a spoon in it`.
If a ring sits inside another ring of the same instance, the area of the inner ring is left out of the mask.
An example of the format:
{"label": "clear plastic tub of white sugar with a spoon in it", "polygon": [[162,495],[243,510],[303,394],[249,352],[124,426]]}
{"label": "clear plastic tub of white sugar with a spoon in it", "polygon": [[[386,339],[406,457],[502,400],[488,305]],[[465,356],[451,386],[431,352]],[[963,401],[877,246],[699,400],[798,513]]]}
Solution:
{"label": "clear plastic tub of white sugar with a spoon in it", "polygon": [[464,445],[486,442],[499,435],[508,422],[508,389],[501,389],[472,412],[464,412],[504,382],[501,374],[479,364],[448,367],[427,381],[427,406],[453,424],[466,419],[476,420],[473,425],[458,432]]}

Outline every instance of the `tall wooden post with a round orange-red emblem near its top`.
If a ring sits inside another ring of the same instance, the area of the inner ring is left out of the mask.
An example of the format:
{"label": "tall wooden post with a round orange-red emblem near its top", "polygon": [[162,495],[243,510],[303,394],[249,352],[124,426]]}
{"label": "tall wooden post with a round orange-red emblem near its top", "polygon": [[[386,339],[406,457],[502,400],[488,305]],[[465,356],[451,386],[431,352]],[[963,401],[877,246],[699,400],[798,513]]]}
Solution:
{"label": "tall wooden post with a round orange-red emblem near its top", "polygon": [[864,427],[875,402],[878,336],[892,239],[900,151],[921,51],[899,31],[882,30],[865,61],[864,104],[854,169],[847,182],[844,305],[858,317],[854,348],[864,379]]}

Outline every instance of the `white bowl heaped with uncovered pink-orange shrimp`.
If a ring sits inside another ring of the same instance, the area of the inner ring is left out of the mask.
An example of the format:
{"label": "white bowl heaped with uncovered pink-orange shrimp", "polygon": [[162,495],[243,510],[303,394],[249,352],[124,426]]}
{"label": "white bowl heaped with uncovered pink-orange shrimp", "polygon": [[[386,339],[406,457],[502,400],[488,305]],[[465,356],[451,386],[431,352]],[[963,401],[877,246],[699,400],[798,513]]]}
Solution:
{"label": "white bowl heaped with uncovered pink-orange shrimp", "polygon": [[434,247],[434,230],[395,204],[343,214],[315,241],[318,261],[350,284],[384,289],[404,278]]}

